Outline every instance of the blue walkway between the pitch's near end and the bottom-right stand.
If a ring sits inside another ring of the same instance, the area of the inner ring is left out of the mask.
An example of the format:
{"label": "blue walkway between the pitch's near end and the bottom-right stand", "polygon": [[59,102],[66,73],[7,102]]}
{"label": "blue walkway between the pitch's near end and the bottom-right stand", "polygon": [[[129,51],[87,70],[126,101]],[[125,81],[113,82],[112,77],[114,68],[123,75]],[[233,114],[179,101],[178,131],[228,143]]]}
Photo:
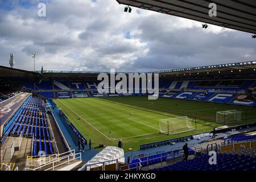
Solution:
{"label": "blue walkway between the pitch's near end and the bottom-right stand", "polygon": [[[228,135],[231,134],[238,134],[243,131],[246,131],[247,129],[241,129],[241,130],[235,130],[235,131],[227,131],[225,133],[220,133],[217,134],[216,137],[224,137],[227,138]],[[250,130],[256,130],[256,127],[251,127]],[[134,158],[137,158],[138,155],[144,154],[144,155],[154,155],[156,152],[170,152],[174,150],[179,150],[181,149],[185,143],[188,143],[188,146],[194,146],[196,144],[200,144],[205,142],[206,140],[210,139],[210,137],[203,137],[200,138],[200,140],[192,139],[188,142],[177,142],[175,145],[164,145],[164,146],[159,146],[155,148],[148,148],[146,150],[137,150],[137,151],[132,151],[132,152],[126,152],[125,153],[125,160],[127,162],[127,156],[130,156],[130,159],[133,160]]]}

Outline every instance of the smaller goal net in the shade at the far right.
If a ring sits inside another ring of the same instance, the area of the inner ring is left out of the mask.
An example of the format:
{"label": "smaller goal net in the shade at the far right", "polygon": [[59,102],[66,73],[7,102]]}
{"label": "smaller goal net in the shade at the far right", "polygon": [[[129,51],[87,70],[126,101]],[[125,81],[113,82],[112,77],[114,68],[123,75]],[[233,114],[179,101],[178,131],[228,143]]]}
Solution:
{"label": "smaller goal net in the shade at the far right", "polygon": [[225,110],[225,111],[218,111],[216,113],[216,122],[218,123],[232,123],[241,121],[242,118],[242,111],[238,110]]}

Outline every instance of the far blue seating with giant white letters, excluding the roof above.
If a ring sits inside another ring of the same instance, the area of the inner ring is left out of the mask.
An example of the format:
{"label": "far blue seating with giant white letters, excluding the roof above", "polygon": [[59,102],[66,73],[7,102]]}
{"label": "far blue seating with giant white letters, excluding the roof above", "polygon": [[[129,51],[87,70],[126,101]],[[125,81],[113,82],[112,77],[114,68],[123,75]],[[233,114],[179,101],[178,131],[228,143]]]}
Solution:
{"label": "far blue seating with giant white letters, excluding the roof above", "polygon": [[[176,98],[184,100],[219,102],[239,105],[255,105],[251,94],[247,94],[247,100],[236,100],[238,96],[245,95],[246,90],[254,88],[255,80],[225,80],[225,81],[174,81],[160,82],[160,97]],[[27,90],[34,90],[34,84],[23,85]],[[108,97],[117,94],[98,94],[97,81],[42,81],[36,84],[35,91],[43,98],[72,98],[72,97]],[[140,91],[141,92],[141,91]],[[133,95],[141,95],[133,93]],[[123,96],[123,94],[119,94]],[[250,98],[249,98],[250,97]]]}

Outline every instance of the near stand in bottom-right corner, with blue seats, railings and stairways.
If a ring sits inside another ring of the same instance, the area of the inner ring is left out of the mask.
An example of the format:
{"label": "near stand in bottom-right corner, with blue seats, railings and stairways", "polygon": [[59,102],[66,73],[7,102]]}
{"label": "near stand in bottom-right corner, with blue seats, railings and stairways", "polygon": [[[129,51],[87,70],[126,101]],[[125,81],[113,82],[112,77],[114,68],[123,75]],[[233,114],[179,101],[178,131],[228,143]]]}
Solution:
{"label": "near stand in bottom-right corner, with blue seats, railings and stairways", "polygon": [[[255,134],[236,135],[227,139],[232,141],[229,144],[227,144],[226,139],[217,139],[211,142],[201,143],[193,146],[190,150],[190,154],[196,155],[195,158],[187,162],[179,161],[164,167],[154,168],[152,171],[255,171],[256,148],[255,144],[253,144],[256,142],[255,136]],[[251,144],[248,142],[251,142]],[[216,143],[216,148],[210,148],[210,150],[216,150],[217,164],[210,165],[208,146],[214,143]],[[229,147],[233,146],[234,143],[236,143],[237,146],[245,148]],[[225,148],[222,147],[229,149],[225,150]],[[221,148],[224,151],[221,151]],[[196,152],[198,149],[200,149],[200,152]],[[136,160],[136,162],[138,162],[138,160]],[[135,168],[134,164],[132,167]]]}

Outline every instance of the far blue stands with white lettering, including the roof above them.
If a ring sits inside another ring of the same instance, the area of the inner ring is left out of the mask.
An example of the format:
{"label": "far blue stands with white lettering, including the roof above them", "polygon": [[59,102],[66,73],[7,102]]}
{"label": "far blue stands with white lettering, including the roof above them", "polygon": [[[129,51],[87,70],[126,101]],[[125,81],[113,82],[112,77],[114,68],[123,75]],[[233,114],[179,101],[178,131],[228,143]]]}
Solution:
{"label": "far blue stands with white lettering, including the roof above them", "polygon": [[[256,105],[254,64],[255,62],[252,61],[154,73],[160,75],[160,97],[254,106]],[[199,72],[207,72],[207,74],[201,75]],[[35,84],[35,90],[34,82],[28,81],[23,84],[25,90],[35,92],[46,99],[117,96],[117,94],[99,94],[97,85],[96,72],[62,71],[44,71],[41,80]],[[141,90],[139,93],[132,94],[142,95]],[[127,96],[126,94],[118,95]],[[247,97],[243,98],[245,96]]]}

